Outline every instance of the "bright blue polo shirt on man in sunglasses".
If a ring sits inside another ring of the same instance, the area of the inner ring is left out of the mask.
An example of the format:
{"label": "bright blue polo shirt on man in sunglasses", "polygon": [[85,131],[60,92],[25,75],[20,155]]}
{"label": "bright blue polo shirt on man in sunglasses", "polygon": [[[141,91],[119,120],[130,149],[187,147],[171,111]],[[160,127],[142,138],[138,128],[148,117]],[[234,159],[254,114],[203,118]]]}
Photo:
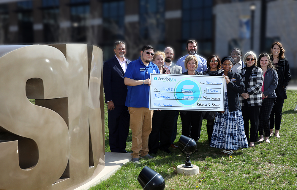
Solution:
{"label": "bright blue polo shirt on man in sunglasses", "polygon": [[[160,73],[158,66],[152,62],[146,66],[139,57],[128,64],[124,77],[145,80],[150,78],[151,73]],[[128,86],[125,105],[131,108],[149,108],[149,85]]]}

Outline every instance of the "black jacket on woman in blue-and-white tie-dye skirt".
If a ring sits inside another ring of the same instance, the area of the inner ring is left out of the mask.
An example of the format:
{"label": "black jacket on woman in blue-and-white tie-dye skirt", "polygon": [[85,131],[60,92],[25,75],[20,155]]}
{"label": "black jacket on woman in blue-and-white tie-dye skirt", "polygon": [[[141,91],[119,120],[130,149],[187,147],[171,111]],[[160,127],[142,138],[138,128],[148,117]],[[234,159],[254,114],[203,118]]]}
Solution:
{"label": "black jacket on woman in blue-and-white tie-dye skirt", "polygon": [[[223,76],[224,72],[217,74],[217,76]],[[241,109],[239,103],[239,94],[244,92],[244,83],[239,73],[228,72],[227,75],[230,82],[227,84],[227,96],[229,111],[237,111]]]}

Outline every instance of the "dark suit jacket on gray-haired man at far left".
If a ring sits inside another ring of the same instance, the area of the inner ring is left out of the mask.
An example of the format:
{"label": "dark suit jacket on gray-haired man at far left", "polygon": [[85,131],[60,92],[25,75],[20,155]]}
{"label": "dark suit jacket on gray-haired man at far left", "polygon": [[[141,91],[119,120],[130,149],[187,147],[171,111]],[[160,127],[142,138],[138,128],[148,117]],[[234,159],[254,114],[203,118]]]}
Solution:
{"label": "dark suit jacket on gray-haired man at far left", "polygon": [[[126,59],[127,64],[131,61]],[[105,93],[105,103],[112,100],[115,105],[125,105],[127,97],[127,86],[124,83],[124,71],[113,56],[112,59],[103,64],[103,88]]]}

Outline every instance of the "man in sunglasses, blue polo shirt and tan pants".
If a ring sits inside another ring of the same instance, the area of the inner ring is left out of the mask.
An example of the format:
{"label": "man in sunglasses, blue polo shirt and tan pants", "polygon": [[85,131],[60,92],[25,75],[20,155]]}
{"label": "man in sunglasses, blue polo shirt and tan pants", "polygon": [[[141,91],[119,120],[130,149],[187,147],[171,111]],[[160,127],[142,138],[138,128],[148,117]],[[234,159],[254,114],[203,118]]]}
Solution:
{"label": "man in sunglasses, blue polo shirt and tan pants", "polygon": [[125,85],[128,86],[125,105],[130,113],[133,151],[131,155],[134,163],[138,163],[140,157],[154,158],[148,153],[153,117],[153,110],[149,110],[150,74],[160,73],[158,66],[151,62],[154,52],[152,46],[143,46],[139,59],[129,63],[124,76]]}

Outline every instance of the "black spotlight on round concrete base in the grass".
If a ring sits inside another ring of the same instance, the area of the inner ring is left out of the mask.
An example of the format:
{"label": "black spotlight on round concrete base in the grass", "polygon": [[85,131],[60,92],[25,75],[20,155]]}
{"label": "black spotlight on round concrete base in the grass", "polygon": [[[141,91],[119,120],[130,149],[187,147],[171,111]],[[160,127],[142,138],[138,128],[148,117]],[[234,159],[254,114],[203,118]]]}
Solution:
{"label": "black spotlight on round concrete base in the grass", "polygon": [[196,151],[197,144],[194,139],[191,139],[190,137],[181,135],[178,141],[178,148],[181,150],[181,152],[184,152],[187,156],[187,160],[185,161],[185,164],[183,165],[184,168],[193,168],[190,161],[190,155]]}

